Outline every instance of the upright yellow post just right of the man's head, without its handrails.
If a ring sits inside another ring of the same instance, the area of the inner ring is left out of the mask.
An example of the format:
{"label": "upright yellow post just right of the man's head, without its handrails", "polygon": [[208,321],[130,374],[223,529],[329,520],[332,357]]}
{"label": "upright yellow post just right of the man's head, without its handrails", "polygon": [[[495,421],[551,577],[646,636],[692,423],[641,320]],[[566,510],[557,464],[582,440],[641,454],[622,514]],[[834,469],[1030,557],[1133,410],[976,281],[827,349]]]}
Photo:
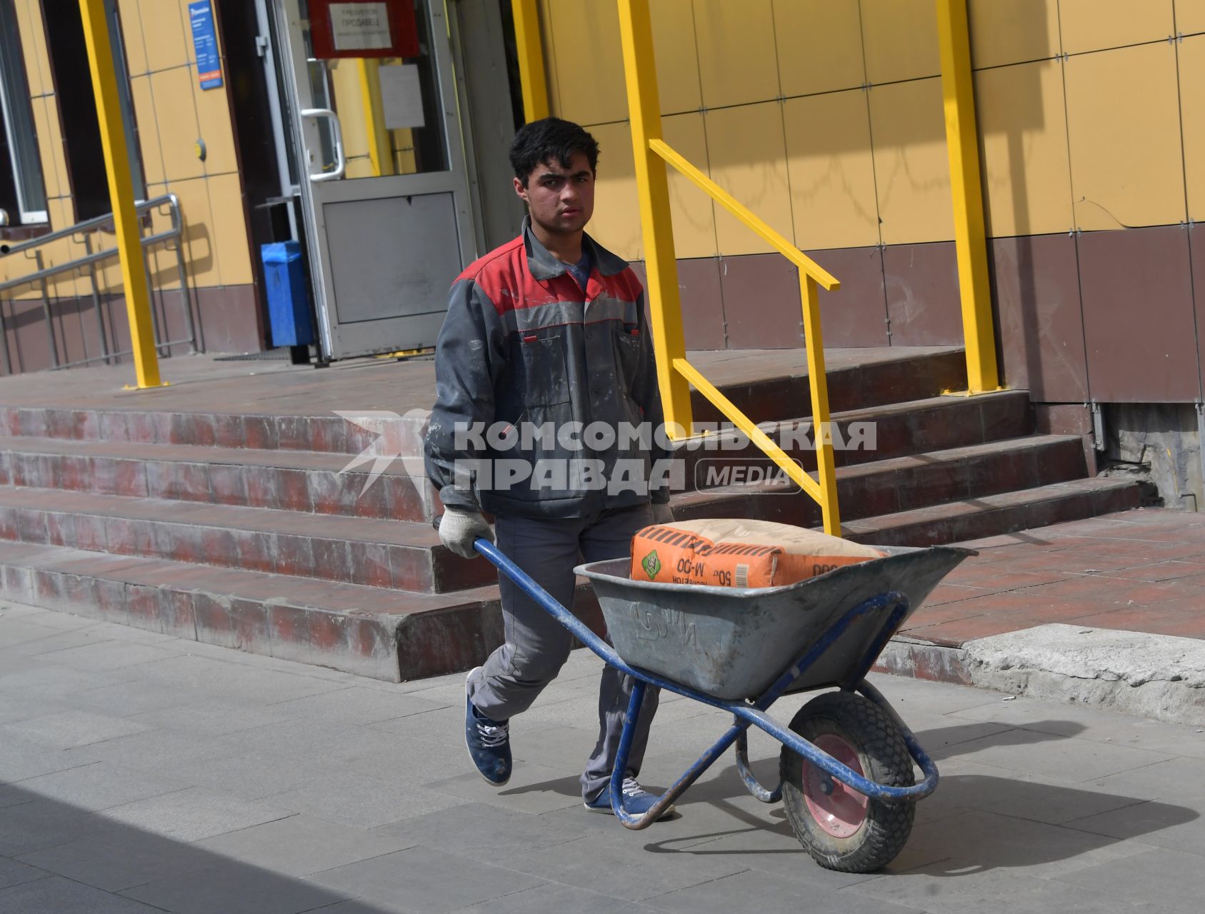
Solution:
{"label": "upright yellow post just right of the man's head, without its handrails", "polygon": [[[682,303],[678,299],[677,260],[674,255],[674,224],[670,214],[669,178],[665,164],[649,147],[662,138],[662,111],[657,94],[657,61],[653,58],[653,26],[648,0],[619,0],[619,39],[628,84],[628,117],[636,157],[636,195],[640,200],[640,230],[645,240],[645,273],[648,281],[648,314],[653,324],[657,353],[657,382],[670,437],[689,436],[690,385],[674,368],[686,355],[682,334]],[[669,396],[666,396],[669,391]]]}

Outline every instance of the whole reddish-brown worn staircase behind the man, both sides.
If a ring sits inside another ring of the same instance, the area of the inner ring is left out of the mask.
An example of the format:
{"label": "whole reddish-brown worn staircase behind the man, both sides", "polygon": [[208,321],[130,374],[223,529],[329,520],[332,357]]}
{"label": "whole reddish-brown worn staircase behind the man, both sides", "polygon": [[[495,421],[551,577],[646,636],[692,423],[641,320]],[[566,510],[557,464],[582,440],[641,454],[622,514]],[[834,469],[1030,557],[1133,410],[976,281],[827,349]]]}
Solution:
{"label": "whole reddish-brown worn staircase behind the man, both sides", "polygon": [[[1135,484],[1088,478],[1080,437],[1034,434],[1024,391],[941,396],[964,371],[960,350],[903,349],[830,372],[842,437],[854,423],[876,432],[874,449],[836,453],[847,536],[930,544],[1138,507]],[[809,412],[807,378],[764,373],[723,390],[771,437],[805,441],[805,420],[783,414]],[[698,396],[695,417],[718,419]],[[418,453],[418,432],[402,430],[402,453]],[[468,668],[502,637],[493,568],[439,543],[439,500],[407,474],[413,460],[366,489],[368,466],[342,472],[374,440],[329,414],[0,407],[0,594],[388,680]],[[815,467],[805,446],[784,447]],[[748,446],[678,454],[704,483],[700,461],[765,462]],[[778,482],[704,484],[674,508],[819,524]]]}

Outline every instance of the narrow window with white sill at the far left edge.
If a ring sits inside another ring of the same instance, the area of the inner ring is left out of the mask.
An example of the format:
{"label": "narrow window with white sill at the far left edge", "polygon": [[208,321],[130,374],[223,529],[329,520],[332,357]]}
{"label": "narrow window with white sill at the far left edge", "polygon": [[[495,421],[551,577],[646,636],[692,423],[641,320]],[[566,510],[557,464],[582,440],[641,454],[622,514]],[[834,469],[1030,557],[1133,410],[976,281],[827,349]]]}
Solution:
{"label": "narrow window with white sill at the far left edge", "polygon": [[22,223],[46,222],[46,189],[12,0],[0,0],[0,207]]}

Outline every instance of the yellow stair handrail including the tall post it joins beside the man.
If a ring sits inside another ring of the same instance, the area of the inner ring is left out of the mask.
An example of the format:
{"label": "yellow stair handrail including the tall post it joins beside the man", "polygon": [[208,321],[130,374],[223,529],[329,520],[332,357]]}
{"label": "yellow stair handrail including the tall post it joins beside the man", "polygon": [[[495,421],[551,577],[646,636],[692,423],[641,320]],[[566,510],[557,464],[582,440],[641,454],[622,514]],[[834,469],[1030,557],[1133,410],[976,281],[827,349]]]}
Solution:
{"label": "yellow stair handrail including the tall post it joins beside the man", "polygon": [[[837,509],[836,471],[833,459],[828,378],[824,366],[824,342],[821,335],[819,293],[840,288],[840,283],[816,261],[803,254],[763,219],[739,204],[728,191],[694,167],[662,138],[657,69],[653,59],[652,24],[648,0],[618,0],[619,34],[628,83],[628,112],[636,160],[636,190],[640,197],[641,228],[645,238],[645,267],[648,278],[648,309],[653,323],[653,346],[658,362],[662,402],[670,435],[680,429],[693,435],[689,385],[757,444],[803,491],[819,506],[825,532],[841,535]],[[804,316],[804,348],[807,381],[811,387],[812,426],[816,440],[817,478],[770,438],[740,408],[709,382],[686,358],[682,311],[678,299],[677,261],[670,217],[669,185],[665,165],[671,165],[712,200],[752,229],[775,250],[799,267],[799,297]]]}

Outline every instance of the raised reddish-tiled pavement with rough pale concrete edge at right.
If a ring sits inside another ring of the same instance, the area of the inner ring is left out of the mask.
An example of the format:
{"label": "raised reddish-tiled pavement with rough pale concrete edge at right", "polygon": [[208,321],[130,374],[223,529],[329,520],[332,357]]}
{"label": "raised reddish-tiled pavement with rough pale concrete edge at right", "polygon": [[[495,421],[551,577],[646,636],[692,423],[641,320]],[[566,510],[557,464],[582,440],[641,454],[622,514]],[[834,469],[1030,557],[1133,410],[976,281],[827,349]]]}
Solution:
{"label": "raised reddish-tiled pavement with rough pale concrete edge at right", "polygon": [[963,543],[881,670],[1205,724],[1205,514],[1144,508]]}

